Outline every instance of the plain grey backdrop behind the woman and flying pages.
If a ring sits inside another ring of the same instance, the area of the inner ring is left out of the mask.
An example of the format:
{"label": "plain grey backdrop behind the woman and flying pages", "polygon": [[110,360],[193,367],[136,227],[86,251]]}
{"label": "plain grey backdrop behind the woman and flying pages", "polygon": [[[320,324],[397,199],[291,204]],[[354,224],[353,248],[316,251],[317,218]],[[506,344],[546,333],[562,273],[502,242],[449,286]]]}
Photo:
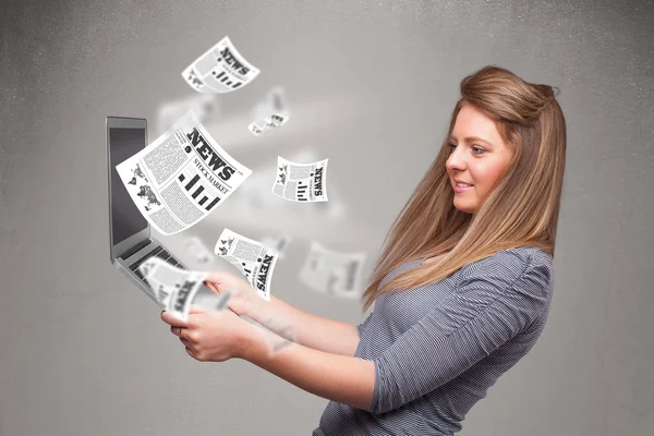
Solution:
{"label": "plain grey backdrop behind the woman and flying pages", "polygon": [[[436,155],[459,81],[506,66],[561,89],[569,136],[556,288],[540,341],[460,434],[654,434],[647,3],[3,1],[0,435],[308,435],[317,426],[327,400],[244,361],[189,358],[108,258],[105,117],[152,123],[160,105],[193,94],[180,72],[225,35],[262,73],[219,97],[209,131],[255,171],[274,168],[278,154],[328,157],[328,186],[347,215],[283,201],[255,215],[234,196],[162,238],[179,257],[195,266],[182,243],[190,234],[213,249],[225,227],[251,238],[289,232],[274,293],[360,323],[356,301],[296,280],[310,241],[368,252],[370,272]],[[247,112],[275,85],[287,89],[291,120],[254,141],[243,134]]]}

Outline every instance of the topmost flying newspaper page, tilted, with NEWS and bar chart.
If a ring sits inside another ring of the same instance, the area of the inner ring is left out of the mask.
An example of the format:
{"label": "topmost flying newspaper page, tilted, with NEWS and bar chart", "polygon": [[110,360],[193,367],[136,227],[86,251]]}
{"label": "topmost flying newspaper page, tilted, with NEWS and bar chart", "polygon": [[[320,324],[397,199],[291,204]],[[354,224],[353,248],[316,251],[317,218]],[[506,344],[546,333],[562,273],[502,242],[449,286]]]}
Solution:
{"label": "topmost flying newspaper page, tilted, with NEWS and bar chart", "polygon": [[199,93],[222,94],[247,85],[258,73],[226,36],[182,71],[182,77]]}

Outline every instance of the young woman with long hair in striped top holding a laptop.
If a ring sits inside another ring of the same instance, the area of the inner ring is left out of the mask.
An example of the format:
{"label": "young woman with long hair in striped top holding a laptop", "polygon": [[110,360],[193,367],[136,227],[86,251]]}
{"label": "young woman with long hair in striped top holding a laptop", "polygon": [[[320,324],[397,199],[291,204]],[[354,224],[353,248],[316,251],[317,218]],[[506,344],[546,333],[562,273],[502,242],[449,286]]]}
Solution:
{"label": "young woman with long hair in striped top holding a laptop", "polygon": [[[446,141],[393,223],[354,326],[211,272],[231,311],[162,319],[199,361],[244,359],[331,400],[314,435],[452,435],[538,339],[552,301],[566,123],[547,85],[467,76]],[[233,312],[232,312],[233,311]],[[278,335],[291,339],[279,348]]]}

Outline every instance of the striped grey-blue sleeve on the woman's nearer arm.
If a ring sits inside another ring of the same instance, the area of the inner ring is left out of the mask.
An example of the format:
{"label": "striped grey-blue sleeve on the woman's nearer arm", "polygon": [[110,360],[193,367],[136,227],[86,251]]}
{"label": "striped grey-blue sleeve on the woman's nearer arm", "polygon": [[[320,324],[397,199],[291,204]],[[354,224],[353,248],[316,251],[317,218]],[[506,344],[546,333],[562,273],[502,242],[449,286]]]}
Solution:
{"label": "striped grey-blue sleeve on the woman's nearer arm", "polygon": [[374,360],[368,411],[384,413],[459,376],[536,320],[549,268],[488,259]]}

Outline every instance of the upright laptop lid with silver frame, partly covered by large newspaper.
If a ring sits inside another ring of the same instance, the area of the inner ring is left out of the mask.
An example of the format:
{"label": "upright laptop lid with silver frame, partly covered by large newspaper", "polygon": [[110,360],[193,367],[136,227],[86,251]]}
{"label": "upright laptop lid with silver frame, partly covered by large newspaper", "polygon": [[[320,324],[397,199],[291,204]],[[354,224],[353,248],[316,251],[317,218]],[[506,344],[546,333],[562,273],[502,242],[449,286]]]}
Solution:
{"label": "upright laptop lid with silver frame, partly covered by large newspaper", "polygon": [[111,261],[149,240],[147,220],[130,197],[116,166],[147,145],[147,121],[107,117],[107,173],[109,177],[109,244]]}

